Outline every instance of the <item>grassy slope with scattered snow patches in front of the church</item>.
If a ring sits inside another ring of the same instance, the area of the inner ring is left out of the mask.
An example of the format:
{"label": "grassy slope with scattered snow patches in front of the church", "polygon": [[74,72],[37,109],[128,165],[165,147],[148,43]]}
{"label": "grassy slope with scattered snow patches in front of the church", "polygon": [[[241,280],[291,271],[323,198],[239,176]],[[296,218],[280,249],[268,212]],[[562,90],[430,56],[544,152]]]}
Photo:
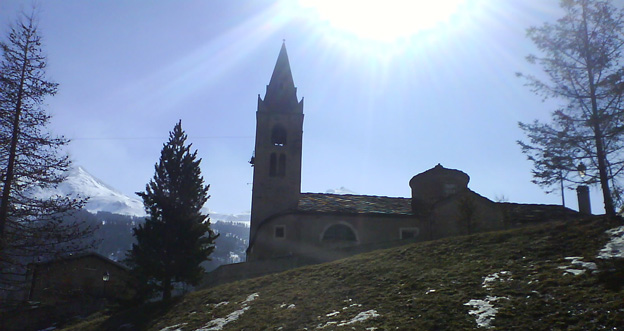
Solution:
{"label": "grassy slope with scattered snow patches in front of the church", "polygon": [[101,314],[73,329],[616,330],[624,264],[598,256],[621,253],[603,249],[614,237],[606,231],[622,224],[596,217],[410,244]]}

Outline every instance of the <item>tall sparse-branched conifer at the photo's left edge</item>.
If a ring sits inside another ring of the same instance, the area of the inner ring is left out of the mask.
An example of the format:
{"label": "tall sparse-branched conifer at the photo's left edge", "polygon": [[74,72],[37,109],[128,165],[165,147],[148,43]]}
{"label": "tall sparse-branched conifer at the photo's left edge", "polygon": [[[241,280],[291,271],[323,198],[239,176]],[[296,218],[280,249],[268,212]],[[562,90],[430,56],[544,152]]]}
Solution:
{"label": "tall sparse-branched conifer at the photo's left edge", "polygon": [[42,106],[57,84],[46,79],[33,15],[10,27],[0,49],[0,290],[11,290],[27,263],[88,248],[93,229],[63,221],[83,200],[38,194],[61,183],[71,164],[60,153],[69,141],[46,129]]}

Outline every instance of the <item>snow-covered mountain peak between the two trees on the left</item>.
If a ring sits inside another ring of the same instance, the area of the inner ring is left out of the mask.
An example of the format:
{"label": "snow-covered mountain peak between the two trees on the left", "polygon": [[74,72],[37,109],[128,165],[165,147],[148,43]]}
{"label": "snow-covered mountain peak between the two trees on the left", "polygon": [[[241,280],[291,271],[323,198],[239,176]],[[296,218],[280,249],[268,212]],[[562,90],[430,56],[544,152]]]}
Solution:
{"label": "snow-covered mountain peak between the two trees on the left", "polygon": [[145,216],[142,201],[115,190],[80,166],[70,169],[65,181],[55,189],[38,192],[37,195],[89,198],[85,209],[91,213],[107,211],[113,214]]}

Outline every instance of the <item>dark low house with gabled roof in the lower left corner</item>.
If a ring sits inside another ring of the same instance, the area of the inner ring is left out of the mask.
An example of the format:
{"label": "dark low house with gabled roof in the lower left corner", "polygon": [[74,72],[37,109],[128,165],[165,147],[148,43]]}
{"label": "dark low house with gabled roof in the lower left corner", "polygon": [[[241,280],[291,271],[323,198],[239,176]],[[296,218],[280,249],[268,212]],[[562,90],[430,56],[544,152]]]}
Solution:
{"label": "dark low house with gabled roof in the lower left corner", "polygon": [[109,303],[130,300],[135,293],[127,267],[92,252],[29,264],[26,284],[19,314],[3,312],[0,329],[50,327],[54,322],[89,315]]}

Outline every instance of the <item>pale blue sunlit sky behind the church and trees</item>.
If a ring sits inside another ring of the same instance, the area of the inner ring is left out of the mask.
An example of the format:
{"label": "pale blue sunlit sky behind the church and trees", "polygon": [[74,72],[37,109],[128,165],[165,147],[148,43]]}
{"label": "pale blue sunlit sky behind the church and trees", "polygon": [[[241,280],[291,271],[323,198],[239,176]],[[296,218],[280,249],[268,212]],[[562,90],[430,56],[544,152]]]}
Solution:
{"label": "pale blue sunlit sky behind the church and trees", "polygon": [[[561,102],[515,75],[540,75],[525,60],[536,53],[526,29],[559,18],[559,1],[400,2],[37,2],[60,84],[46,100],[50,130],[72,140],[74,164],[136,197],[182,120],[211,185],[207,207],[248,212],[257,98],[285,40],[304,98],[302,192],[409,197],[409,180],[440,163],[492,200],[561,203],[531,183],[516,143],[519,121],[548,120]],[[31,4],[0,1],[2,38]],[[577,208],[572,190],[566,205]]]}

